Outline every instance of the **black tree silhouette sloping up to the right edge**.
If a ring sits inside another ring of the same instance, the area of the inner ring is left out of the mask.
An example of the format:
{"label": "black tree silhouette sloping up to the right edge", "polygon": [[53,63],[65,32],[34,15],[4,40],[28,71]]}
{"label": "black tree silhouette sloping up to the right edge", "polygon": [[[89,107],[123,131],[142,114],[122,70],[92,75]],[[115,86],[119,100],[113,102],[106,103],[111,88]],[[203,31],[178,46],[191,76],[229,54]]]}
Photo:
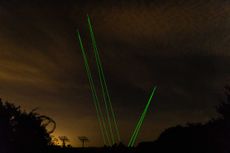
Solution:
{"label": "black tree silhouette sloping up to the right edge", "polygon": [[225,89],[227,100],[216,109],[220,117],[207,123],[190,123],[168,128],[156,141],[140,143],[138,152],[230,152],[230,87],[226,86]]}

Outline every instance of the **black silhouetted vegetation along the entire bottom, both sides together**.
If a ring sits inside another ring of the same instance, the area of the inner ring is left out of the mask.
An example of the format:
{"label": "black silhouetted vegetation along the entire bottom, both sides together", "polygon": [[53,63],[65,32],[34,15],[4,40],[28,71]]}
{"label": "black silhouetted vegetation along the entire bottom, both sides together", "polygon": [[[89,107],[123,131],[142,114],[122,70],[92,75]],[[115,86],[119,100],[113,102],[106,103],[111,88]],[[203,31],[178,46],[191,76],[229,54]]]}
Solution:
{"label": "black silhouetted vegetation along the entire bottom, both sides together", "polygon": [[142,142],[136,148],[122,144],[109,148],[55,146],[51,133],[56,124],[51,118],[0,100],[0,153],[230,153],[229,86],[226,96],[217,107],[218,118],[168,128],[156,141]]}

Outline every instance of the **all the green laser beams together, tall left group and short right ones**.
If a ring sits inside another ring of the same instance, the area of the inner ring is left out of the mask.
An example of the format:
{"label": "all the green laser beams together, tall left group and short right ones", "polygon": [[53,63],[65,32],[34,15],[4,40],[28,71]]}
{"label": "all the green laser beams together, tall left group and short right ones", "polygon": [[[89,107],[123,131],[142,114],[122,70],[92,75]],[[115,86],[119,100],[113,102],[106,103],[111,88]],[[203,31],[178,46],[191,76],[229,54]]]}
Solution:
{"label": "all the green laser beams together, tall left group and short right ones", "polygon": [[[78,40],[79,40],[79,44],[80,44],[80,48],[81,48],[81,52],[82,52],[82,56],[83,56],[83,60],[84,60],[86,73],[88,76],[90,90],[91,90],[91,94],[92,94],[92,98],[93,98],[93,104],[94,104],[95,109],[96,109],[96,115],[97,115],[100,131],[101,131],[101,135],[103,138],[103,142],[104,142],[104,145],[112,146],[116,143],[121,142],[121,137],[120,137],[120,133],[119,133],[119,129],[118,129],[116,114],[114,112],[111,98],[110,98],[110,94],[108,91],[108,86],[107,86],[107,82],[105,79],[101,58],[99,55],[99,50],[98,50],[96,39],[94,36],[93,26],[91,24],[91,20],[90,20],[90,17],[88,15],[87,15],[87,22],[88,22],[88,27],[89,27],[89,31],[90,31],[90,38],[92,41],[92,46],[93,46],[93,51],[94,51],[94,58],[96,60],[96,67],[97,67],[97,72],[98,72],[98,76],[99,76],[100,89],[101,89],[101,93],[102,93],[102,97],[103,97],[102,98],[103,105],[102,105],[102,102],[101,102],[99,95],[98,95],[99,92],[96,90],[97,88],[95,85],[95,81],[93,80],[92,71],[89,67],[89,61],[88,61],[87,54],[86,54],[85,48],[83,46],[82,38],[81,38],[79,31],[77,31],[77,36],[78,36]],[[144,119],[146,117],[149,105],[152,101],[152,98],[153,98],[155,91],[156,91],[156,87],[153,88],[153,91],[152,91],[150,98],[149,98],[149,100],[145,106],[145,109],[142,112],[141,117],[137,122],[137,125],[136,125],[134,132],[131,135],[130,141],[128,143],[128,147],[134,147],[134,145],[135,145],[135,142],[136,142],[137,137],[140,133],[141,126],[144,122]]]}

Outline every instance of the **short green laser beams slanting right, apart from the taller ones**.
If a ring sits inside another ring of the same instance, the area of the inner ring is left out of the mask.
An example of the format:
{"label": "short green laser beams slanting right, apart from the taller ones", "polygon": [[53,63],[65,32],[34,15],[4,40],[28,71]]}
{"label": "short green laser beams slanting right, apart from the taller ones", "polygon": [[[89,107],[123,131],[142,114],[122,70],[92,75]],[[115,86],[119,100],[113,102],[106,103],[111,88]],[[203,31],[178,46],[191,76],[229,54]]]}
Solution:
{"label": "short green laser beams slanting right, apart from the taller ones", "polygon": [[143,125],[143,121],[145,119],[147,110],[148,110],[149,105],[150,105],[150,103],[152,101],[152,98],[153,98],[153,95],[154,95],[155,91],[156,91],[156,87],[154,87],[154,89],[153,89],[153,91],[152,91],[152,93],[151,93],[151,95],[149,97],[149,100],[148,100],[148,102],[147,102],[147,104],[145,106],[145,109],[144,109],[143,113],[141,114],[141,118],[139,119],[139,121],[138,121],[138,123],[136,125],[135,131],[132,134],[132,137],[131,137],[131,139],[129,141],[128,147],[133,147],[135,142],[136,142],[137,136],[140,133],[141,126]]}

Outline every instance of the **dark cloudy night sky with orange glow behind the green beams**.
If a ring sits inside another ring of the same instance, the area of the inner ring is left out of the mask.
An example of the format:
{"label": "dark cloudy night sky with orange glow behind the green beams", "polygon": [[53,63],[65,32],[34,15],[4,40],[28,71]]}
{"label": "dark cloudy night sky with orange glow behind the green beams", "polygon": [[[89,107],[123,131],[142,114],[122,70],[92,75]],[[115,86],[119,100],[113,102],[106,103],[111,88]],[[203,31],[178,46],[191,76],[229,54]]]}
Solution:
{"label": "dark cloudy night sky with orange glow behind the green beams", "polygon": [[92,18],[122,140],[127,142],[154,85],[139,141],[165,128],[215,117],[230,82],[227,0],[1,0],[0,95],[57,122],[56,136],[102,140],[76,37],[93,54]]}

